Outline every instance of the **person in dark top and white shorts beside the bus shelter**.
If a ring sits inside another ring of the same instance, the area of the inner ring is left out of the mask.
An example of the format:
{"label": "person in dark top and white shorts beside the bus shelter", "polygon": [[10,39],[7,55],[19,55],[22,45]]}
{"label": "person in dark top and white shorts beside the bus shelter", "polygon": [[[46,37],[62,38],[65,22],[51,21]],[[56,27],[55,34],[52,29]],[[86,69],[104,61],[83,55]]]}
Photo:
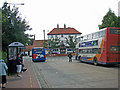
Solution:
{"label": "person in dark top and white shorts beside the bus shelter", "polygon": [[20,58],[20,54],[17,54],[16,57],[16,67],[17,67],[17,76],[22,77],[21,70],[22,70],[22,59]]}

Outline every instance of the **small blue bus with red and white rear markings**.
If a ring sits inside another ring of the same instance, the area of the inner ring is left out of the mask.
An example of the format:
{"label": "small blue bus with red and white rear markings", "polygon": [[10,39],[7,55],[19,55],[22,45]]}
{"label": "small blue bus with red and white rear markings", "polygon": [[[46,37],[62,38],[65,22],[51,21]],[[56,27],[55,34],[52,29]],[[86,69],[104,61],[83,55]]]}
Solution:
{"label": "small blue bus with red and white rear markings", "polygon": [[36,47],[32,48],[32,61],[45,61],[46,60],[46,53],[45,48],[43,47]]}

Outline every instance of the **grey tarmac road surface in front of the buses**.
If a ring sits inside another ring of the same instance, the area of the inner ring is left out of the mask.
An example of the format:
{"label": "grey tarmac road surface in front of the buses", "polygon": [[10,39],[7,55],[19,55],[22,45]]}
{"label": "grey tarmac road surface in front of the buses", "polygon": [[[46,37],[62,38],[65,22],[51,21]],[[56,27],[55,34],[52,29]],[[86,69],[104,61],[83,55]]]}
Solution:
{"label": "grey tarmac road surface in front of the buses", "polygon": [[67,57],[32,62],[41,88],[118,88],[118,67],[94,66]]}

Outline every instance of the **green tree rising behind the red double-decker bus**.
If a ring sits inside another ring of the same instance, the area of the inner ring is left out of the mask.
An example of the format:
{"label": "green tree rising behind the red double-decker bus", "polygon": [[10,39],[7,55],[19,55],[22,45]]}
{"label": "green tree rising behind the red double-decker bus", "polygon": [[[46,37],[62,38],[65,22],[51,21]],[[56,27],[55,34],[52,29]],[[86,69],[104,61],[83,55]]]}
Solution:
{"label": "green tree rising behind the red double-decker bus", "polygon": [[99,26],[99,29],[102,29],[105,27],[119,27],[118,17],[115,15],[115,13],[111,9],[109,9],[107,14],[103,17],[102,24],[98,26]]}

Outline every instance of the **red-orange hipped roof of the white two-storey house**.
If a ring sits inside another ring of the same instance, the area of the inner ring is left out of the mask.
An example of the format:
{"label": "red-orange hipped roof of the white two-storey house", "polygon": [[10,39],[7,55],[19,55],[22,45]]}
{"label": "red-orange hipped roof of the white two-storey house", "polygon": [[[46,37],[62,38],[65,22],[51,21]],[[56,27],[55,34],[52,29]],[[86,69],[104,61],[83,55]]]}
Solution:
{"label": "red-orange hipped roof of the white two-storey house", "polygon": [[77,31],[74,28],[54,28],[51,32],[48,33],[48,35],[51,34],[82,34],[81,32]]}

